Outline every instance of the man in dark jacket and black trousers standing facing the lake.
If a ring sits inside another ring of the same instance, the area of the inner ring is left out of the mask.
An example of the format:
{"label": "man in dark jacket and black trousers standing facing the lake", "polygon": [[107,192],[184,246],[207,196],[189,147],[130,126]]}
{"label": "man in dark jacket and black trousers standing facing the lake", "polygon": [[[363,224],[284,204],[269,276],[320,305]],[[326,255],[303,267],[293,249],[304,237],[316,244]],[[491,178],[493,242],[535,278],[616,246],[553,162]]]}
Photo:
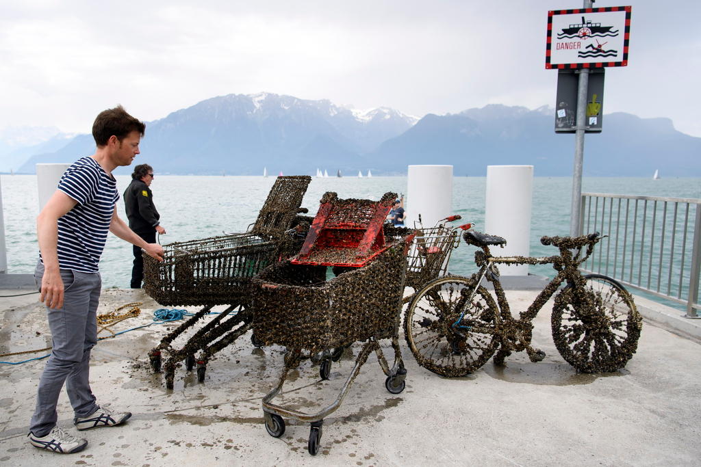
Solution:
{"label": "man in dark jacket and black trousers standing facing the lake", "polygon": [[[154,194],[151,193],[151,182],[154,181],[154,169],[148,164],[134,167],[132,181],[124,190],[129,228],[139,237],[149,243],[156,243],[156,232],[164,234],[158,219],[161,216],[156,211]],[[144,280],[144,258],[138,246],[134,246],[134,267],[132,267],[131,288],[141,288]]]}

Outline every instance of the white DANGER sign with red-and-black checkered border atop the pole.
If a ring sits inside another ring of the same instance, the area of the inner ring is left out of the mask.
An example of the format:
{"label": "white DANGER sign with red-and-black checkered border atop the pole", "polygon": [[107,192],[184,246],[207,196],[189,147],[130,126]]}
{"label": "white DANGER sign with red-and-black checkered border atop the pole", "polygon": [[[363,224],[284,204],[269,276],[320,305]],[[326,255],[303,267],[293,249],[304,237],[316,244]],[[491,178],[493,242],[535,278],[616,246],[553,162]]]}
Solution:
{"label": "white DANGER sign with red-and-black checkered border atop the pole", "polygon": [[545,68],[625,67],[630,11],[630,6],[549,11]]}

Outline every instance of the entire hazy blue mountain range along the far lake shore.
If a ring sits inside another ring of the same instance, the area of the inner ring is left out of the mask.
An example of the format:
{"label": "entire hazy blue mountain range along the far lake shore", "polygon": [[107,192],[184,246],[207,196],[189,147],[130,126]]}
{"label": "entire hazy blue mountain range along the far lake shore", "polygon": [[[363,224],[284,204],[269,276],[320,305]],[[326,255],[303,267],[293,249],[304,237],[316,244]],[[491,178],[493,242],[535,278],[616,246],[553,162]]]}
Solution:
{"label": "entire hazy blue mountain range along the far lake shore", "polygon": [[[585,137],[585,176],[651,176],[655,169],[663,176],[701,175],[701,138],[674,130],[672,120],[609,113],[603,121],[601,134]],[[11,168],[34,173],[36,163],[72,162],[94,149],[89,134],[56,135],[15,149]],[[554,133],[547,106],[492,104],[418,119],[384,107],[358,111],[260,93],[213,97],[147,122],[137,162],[161,174],[259,175],[265,167],[271,174],[320,168],[382,175],[404,174],[411,164],[449,164],[456,175],[481,176],[487,165],[533,165],[536,176],[566,176],[573,153],[573,135]]]}

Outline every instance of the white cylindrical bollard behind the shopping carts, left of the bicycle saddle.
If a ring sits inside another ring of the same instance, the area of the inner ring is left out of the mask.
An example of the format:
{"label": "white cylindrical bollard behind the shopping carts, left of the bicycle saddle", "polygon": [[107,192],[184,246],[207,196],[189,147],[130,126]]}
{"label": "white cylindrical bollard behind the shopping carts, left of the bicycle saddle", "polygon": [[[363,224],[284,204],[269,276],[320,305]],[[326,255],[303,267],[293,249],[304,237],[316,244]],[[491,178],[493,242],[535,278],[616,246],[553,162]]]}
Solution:
{"label": "white cylindrical bollard behind the shopping carts, left of the bicycle saddle", "polygon": [[426,228],[450,216],[453,209],[453,166],[409,165],[406,201],[404,225],[407,227],[414,227],[419,214]]}

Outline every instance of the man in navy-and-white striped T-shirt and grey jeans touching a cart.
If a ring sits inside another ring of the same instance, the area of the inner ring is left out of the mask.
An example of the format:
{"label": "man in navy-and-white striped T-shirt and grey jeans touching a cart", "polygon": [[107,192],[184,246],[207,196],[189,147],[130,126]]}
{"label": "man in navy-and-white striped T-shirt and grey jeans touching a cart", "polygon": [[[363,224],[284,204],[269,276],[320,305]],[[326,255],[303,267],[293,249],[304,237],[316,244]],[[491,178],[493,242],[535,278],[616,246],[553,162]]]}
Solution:
{"label": "man in navy-and-white striped T-shirt and grey jeans touching a cart", "polygon": [[100,113],[93,124],[95,154],[74,162],[36,218],[41,284],[53,349],[41,375],[29,442],[40,449],[68,454],[88,442],[56,425],[58,396],[66,391],[79,430],[114,426],[130,412],[97,405],[90,389],[90,349],[97,343],[97,305],[102,281],[98,265],[107,231],[163,260],[163,248],[136,235],[117,215],[119,195],[111,172],[130,165],[139,154],[146,125],[122,106]]}

